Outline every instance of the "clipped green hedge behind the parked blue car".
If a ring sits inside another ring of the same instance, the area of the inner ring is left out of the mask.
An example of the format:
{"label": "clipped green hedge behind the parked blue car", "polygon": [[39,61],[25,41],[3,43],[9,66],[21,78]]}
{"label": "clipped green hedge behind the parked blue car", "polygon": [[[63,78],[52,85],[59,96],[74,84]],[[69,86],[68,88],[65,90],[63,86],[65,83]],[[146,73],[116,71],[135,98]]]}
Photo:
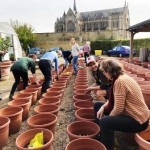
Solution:
{"label": "clipped green hedge behind the parked blue car", "polygon": [[[112,49],[117,45],[128,45],[130,46],[130,40],[97,40],[91,41],[91,53],[94,54],[95,50],[103,50],[103,54],[106,51]],[[150,39],[134,39],[134,49],[138,51],[140,48],[150,48]]]}

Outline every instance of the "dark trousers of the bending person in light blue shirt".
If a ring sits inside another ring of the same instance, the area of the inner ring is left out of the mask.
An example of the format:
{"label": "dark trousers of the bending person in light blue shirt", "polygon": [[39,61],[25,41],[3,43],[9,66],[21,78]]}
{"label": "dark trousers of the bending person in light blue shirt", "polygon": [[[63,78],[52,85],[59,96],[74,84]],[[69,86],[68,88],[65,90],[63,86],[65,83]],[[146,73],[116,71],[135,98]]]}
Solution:
{"label": "dark trousers of the bending person in light blue shirt", "polygon": [[41,59],[39,61],[39,68],[44,75],[44,82],[42,85],[42,92],[45,93],[46,90],[50,87],[52,81],[52,64],[50,60]]}

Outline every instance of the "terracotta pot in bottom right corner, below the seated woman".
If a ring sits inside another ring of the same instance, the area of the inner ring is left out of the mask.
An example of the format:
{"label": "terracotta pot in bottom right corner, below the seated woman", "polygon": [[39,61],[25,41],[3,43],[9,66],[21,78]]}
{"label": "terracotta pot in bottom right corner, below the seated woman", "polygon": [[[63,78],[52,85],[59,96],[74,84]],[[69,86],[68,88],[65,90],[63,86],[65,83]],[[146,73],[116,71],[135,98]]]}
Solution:
{"label": "terracotta pot in bottom right corner, below the seated woman", "polygon": [[145,131],[135,134],[135,141],[139,145],[139,150],[150,149],[150,124]]}

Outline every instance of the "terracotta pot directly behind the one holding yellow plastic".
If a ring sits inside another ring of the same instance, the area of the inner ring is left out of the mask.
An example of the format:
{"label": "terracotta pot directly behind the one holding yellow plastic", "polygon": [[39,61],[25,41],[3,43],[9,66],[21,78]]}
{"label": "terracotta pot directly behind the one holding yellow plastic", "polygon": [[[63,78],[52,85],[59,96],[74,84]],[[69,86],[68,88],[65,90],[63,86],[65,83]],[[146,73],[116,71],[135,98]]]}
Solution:
{"label": "terracotta pot directly behind the one holding yellow plastic", "polygon": [[54,114],[36,114],[27,120],[30,128],[46,128],[55,134],[57,116]]}

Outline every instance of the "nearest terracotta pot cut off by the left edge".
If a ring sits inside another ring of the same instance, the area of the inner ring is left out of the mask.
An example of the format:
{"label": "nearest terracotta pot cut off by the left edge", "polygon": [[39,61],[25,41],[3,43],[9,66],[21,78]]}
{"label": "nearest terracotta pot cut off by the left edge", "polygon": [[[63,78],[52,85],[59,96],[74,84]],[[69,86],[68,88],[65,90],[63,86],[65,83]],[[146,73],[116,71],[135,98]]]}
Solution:
{"label": "nearest terracotta pot cut off by the left edge", "polygon": [[9,136],[10,119],[0,116],[0,149],[6,145]]}

